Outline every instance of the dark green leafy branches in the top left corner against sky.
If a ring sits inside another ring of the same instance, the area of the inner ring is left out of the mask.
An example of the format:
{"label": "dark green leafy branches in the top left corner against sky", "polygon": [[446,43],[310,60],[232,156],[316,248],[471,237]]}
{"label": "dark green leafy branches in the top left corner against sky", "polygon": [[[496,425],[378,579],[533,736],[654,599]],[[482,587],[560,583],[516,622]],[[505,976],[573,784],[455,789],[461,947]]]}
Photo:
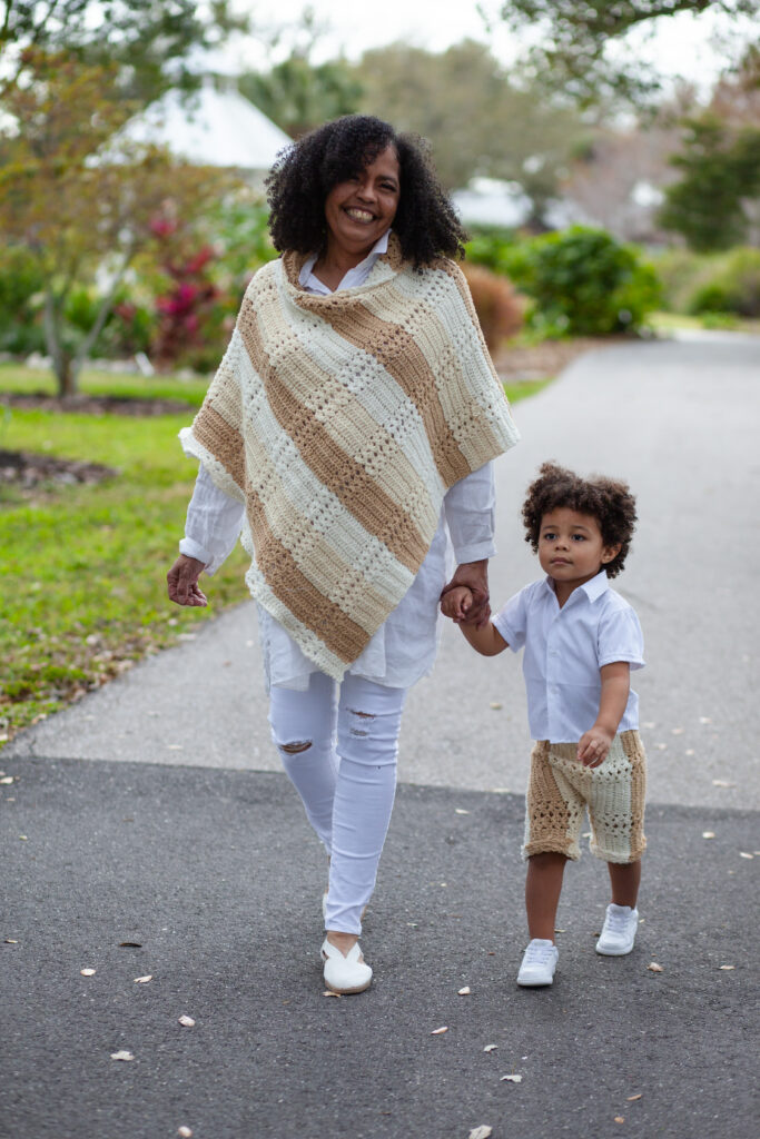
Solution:
{"label": "dark green leafy branches in the top left corner against sky", "polygon": [[196,0],[0,0],[0,55],[6,68],[30,47],[115,64],[114,95],[147,104],[167,87],[196,82],[183,63],[190,48],[248,26],[231,8],[213,0],[202,18]]}

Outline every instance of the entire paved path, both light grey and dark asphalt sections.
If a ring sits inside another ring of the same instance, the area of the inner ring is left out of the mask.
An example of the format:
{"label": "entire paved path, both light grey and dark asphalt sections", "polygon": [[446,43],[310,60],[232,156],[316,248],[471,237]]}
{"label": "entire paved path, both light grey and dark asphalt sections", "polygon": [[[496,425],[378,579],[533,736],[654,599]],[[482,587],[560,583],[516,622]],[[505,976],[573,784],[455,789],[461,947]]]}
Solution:
{"label": "entire paved path, both light grey and dark asphalt sections", "polygon": [[536,573],[516,523],[541,459],[638,494],[620,579],[649,661],[634,953],[594,953],[606,899],[586,855],[554,988],[516,989],[522,681],[450,629],[407,710],[362,937],[376,982],[324,998],[324,860],[273,770],[246,605],[0,756],[16,778],[0,788],[2,1139],[754,1137],[759,364],[738,338],[587,357],[517,407],[524,442],[499,465],[495,598]]}

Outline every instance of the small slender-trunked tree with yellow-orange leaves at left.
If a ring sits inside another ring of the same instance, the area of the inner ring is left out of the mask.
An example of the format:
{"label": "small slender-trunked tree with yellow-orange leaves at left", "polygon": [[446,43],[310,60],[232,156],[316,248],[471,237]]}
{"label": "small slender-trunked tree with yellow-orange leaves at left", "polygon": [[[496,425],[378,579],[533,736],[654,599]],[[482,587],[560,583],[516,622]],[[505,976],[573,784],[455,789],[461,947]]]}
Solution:
{"label": "small slender-trunked tree with yellow-orange leaves at left", "polygon": [[[154,240],[156,216],[197,218],[230,185],[157,148],[114,142],[134,109],[111,97],[116,72],[28,48],[0,92],[0,241],[27,249],[43,273],[46,342],[62,396],[75,392],[129,265]],[[76,333],[67,302],[104,276],[93,325]]]}

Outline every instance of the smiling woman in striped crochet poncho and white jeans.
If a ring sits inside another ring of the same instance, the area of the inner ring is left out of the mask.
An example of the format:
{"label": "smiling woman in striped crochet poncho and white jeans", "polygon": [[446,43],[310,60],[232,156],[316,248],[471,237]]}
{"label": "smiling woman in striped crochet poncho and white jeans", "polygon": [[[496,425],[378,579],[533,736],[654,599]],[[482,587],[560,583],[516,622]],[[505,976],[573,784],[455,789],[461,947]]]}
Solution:
{"label": "smiling woman in striped crochet poncho and white jeans", "polygon": [[201,469],[169,596],[205,605],[199,574],[243,528],[272,738],[330,859],[325,982],[361,992],[404,696],[432,667],[442,590],[466,583],[488,616],[490,460],[518,436],[416,141],[351,115],[280,155],[268,188],[283,255],[181,433]]}

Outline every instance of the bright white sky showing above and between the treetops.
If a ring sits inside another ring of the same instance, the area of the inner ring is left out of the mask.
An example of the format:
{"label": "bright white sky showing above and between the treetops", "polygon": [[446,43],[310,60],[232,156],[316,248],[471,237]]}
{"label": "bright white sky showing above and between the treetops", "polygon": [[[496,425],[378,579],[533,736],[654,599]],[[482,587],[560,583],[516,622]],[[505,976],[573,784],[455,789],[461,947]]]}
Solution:
{"label": "bright white sky showing above and between the treetops", "polygon": [[[297,22],[305,0],[277,0],[276,6],[261,0],[238,0],[238,7],[252,13],[254,21],[262,26],[271,26],[275,11],[277,24],[283,25]],[[317,63],[341,54],[357,59],[368,48],[398,40],[441,51],[469,36],[489,43],[497,58],[506,65],[521,52],[521,43],[498,19],[498,0],[379,0],[371,5],[357,0],[313,0],[311,7],[318,22],[327,28],[313,56]],[[491,31],[481,11],[489,17]],[[683,75],[709,84],[727,58],[725,50],[721,51],[711,41],[716,32],[732,26],[738,39],[750,40],[749,19],[742,25],[732,25],[726,17],[714,13],[700,16],[684,13],[659,21],[654,35],[638,33],[631,48],[641,59],[655,63],[668,76]],[[245,66],[267,66],[262,55],[254,60],[258,50],[255,44],[246,46],[242,56]]]}

